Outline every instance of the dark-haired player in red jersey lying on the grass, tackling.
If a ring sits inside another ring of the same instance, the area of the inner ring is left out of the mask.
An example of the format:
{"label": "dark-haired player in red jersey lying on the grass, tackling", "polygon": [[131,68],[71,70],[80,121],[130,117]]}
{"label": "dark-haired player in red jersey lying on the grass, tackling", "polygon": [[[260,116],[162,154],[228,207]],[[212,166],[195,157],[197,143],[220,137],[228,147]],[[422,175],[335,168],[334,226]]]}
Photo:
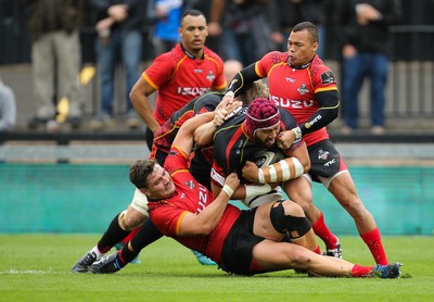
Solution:
{"label": "dark-haired player in red jersey lying on the grass, tackling", "polygon": [[[362,266],[298,246],[312,230],[303,209],[292,201],[265,203],[248,211],[228,204],[240,185],[234,173],[214,198],[188,171],[194,129],[213,117],[214,113],[205,113],[182,125],[164,167],[146,160],[137,161],[130,168],[131,183],[148,197],[150,216],[164,235],[233,274],[296,268],[330,277],[399,276],[399,263]],[[281,242],[286,231],[293,243]],[[113,259],[110,255],[100,263]]]}

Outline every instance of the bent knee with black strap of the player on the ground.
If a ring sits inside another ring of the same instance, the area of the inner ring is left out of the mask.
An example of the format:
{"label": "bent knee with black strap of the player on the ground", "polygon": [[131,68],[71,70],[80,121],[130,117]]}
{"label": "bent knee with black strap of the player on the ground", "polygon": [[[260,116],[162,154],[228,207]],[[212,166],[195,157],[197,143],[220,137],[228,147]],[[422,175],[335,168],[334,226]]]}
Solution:
{"label": "bent knee with black strap of the player on the ground", "polygon": [[[291,202],[291,201],[286,201]],[[291,239],[296,239],[306,235],[310,229],[311,225],[305,216],[303,209],[295,204],[285,204],[284,202],[276,202],[270,210],[270,221],[275,229],[279,232],[286,232]]]}

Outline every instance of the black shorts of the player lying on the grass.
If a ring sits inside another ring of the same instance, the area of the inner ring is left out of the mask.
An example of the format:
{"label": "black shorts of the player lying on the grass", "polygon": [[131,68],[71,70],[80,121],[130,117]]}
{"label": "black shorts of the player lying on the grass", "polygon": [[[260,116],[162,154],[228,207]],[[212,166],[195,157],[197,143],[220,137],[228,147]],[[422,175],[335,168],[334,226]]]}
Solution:
{"label": "black shorts of the player lying on the grass", "polygon": [[253,223],[256,209],[241,211],[240,217],[233,224],[225,240],[221,251],[220,267],[237,275],[253,275],[257,272],[250,270],[253,259],[253,247],[264,240],[253,235]]}

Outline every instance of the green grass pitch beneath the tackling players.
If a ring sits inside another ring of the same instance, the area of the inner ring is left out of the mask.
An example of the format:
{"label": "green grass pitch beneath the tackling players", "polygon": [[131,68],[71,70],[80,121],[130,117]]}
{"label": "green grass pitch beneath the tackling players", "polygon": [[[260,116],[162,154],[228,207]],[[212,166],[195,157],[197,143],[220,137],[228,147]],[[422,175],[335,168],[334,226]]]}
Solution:
{"label": "green grass pitch beneath the tackling players", "polygon": [[[114,275],[73,274],[99,235],[0,235],[0,301],[434,301],[434,237],[383,237],[399,279],[310,278],[293,270],[230,276],[162,238]],[[361,239],[340,237],[344,257],[373,264]]]}

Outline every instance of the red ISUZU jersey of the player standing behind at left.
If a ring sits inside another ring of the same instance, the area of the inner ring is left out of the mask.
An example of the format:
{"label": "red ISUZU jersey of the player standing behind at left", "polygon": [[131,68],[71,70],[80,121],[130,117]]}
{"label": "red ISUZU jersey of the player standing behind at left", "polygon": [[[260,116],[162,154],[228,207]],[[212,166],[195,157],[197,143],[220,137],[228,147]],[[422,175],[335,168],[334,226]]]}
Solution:
{"label": "red ISUZU jersey of the player standing behind at left", "polygon": [[159,125],[209,88],[220,90],[226,87],[224,62],[206,47],[203,59],[195,59],[177,45],[158,55],[142,77],[157,90],[154,116]]}

